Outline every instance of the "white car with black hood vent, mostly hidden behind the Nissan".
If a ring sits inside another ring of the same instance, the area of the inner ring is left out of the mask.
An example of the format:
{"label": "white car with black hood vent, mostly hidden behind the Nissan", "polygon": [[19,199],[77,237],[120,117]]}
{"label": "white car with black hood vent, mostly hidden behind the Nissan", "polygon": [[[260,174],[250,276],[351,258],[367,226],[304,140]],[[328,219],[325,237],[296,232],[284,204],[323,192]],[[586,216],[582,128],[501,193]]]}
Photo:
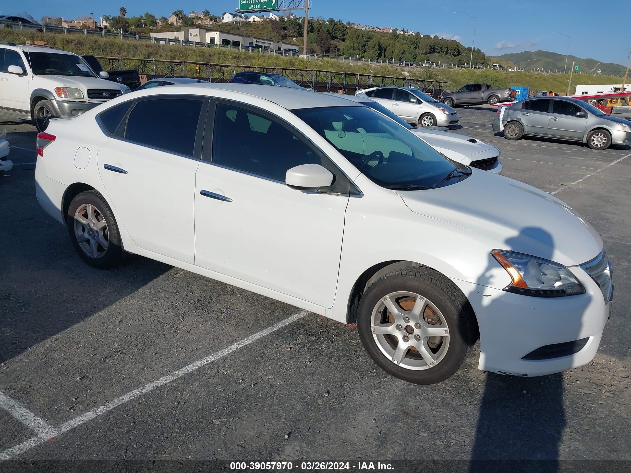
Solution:
{"label": "white car with black hood vent, mostly hidden behind the Nissan", "polygon": [[495,174],[502,172],[500,150],[495,148],[492,144],[484,143],[471,136],[432,130],[427,127],[413,127],[379,102],[363,95],[343,95],[343,97],[353,102],[366,105],[366,107],[374,108],[377,112],[386,115],[386,117],[389,117],[399,125],[415,133],[416,136],[425,141],[425,143],[428,143],[432,148],[451,160]]}

